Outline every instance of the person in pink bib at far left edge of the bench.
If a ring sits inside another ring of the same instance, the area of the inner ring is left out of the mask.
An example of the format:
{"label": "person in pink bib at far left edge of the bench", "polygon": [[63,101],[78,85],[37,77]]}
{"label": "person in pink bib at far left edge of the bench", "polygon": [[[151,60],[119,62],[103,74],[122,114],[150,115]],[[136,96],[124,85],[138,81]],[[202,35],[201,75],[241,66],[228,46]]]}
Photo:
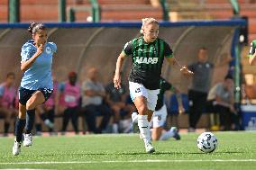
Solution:
{"label": "person in pink bib at far left edge of the bench", "polygon": [[0,85],[0,116],[5,118],[4,136],[7,136],[10,122],[18,111],[14,108],[16,89],[14,87],[15,75],[8,73],[5,82]]}

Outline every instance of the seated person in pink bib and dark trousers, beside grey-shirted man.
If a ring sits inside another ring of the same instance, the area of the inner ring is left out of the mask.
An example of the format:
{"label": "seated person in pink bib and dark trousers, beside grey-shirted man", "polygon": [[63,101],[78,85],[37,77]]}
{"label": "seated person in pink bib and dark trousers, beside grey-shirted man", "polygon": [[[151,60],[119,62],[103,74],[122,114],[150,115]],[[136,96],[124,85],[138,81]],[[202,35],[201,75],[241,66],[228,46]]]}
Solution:
{"label": "seated person in pink bib and dark trousers, beside grey-shirted man", "polygon": [[62,134],[65,134],[69,119],[71,118],[73,128],[78,134],[78,109],[79,101],[81,97],[80,85],[77,84],[78,75],[75,72],[69,73],[69,81],[60,83],[59,90],[57,92],[57,98],[59,100],[57,105],[64,109],[63,121],[62,121]]}

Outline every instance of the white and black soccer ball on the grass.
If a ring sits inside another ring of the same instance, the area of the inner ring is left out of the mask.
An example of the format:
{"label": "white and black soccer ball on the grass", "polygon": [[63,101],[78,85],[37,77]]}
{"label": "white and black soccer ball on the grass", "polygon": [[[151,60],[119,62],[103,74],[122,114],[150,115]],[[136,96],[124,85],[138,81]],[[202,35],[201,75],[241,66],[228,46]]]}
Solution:
{"label": "white and black soccer ball on the grass", "polygon": [[197,147],[205,153],[214,152],[217,145],[218,140],[211,132],[204,132],[197,138]]}

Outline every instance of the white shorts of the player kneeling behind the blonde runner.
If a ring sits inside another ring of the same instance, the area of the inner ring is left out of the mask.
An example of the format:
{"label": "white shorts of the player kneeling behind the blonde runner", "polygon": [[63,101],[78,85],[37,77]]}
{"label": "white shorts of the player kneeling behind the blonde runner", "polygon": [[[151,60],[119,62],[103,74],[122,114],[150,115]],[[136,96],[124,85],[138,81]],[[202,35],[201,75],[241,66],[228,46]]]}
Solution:
{"label": "white shorts of the player kneeling behind the blonde runner", "polygon": [[151,122],[150,122],[150,126],[152,128],[159,128],[159,127],[163,127],[165,121],[167,118],[167,108],[166,105],[163,104],[163,106],[160,108],[159,111],[155,111],[153,113]]}

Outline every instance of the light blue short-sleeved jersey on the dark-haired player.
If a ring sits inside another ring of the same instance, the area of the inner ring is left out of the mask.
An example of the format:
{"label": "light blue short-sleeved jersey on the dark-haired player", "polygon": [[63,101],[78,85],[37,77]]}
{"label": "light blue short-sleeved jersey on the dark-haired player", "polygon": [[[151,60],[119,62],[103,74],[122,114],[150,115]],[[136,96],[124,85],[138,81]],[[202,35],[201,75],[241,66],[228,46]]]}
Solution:
{"label": "light blue short-sleeved jersey on the dark-haired player", "polygon": [[[32,58],[37,49],[33,45],[33,40],[29,40],[22,48],[22,62]],[[57,51],[57,46],[53,42],[47,42],[41,55],[36,58],[32,67],[24,72],[21,86],[29,90],[38,90],[40,88],[53,89],[51,78],[51,63],[53,53]]]}

